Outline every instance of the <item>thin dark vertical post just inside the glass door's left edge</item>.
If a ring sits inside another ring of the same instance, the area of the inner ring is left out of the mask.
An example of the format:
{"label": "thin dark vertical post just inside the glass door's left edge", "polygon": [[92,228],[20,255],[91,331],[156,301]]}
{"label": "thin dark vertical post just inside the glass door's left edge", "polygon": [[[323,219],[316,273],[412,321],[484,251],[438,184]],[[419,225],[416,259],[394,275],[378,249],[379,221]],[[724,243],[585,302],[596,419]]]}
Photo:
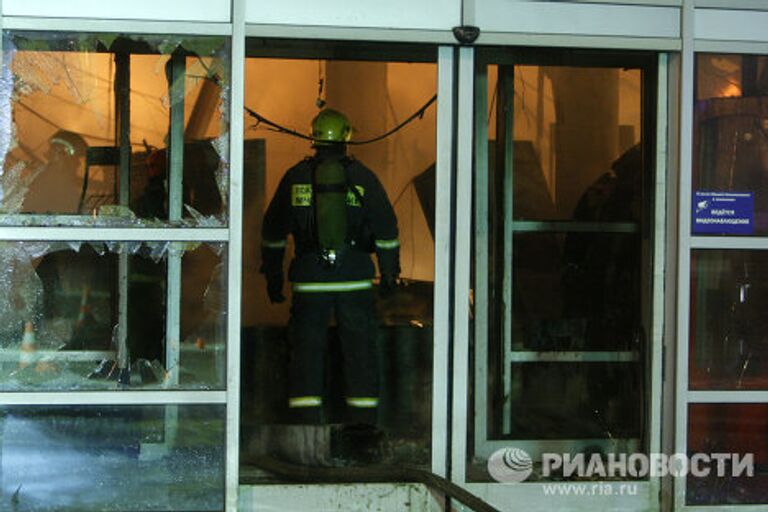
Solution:
{"label": "thin dark vertical post just inside the glass door's left edge", "polygon": [[496,107],[496,143],[502,145],[502,159],[496,160],[497,168],[503,166],[502,201],[504,211],[503,224],[503,261],[504,277],[502,281],[503,336],[504,336],[504,397],[502,429],[509,434],[512,429],[512,231],[513,215],[513,162],[515,139],[515,68],[499,66],[499,97]]}

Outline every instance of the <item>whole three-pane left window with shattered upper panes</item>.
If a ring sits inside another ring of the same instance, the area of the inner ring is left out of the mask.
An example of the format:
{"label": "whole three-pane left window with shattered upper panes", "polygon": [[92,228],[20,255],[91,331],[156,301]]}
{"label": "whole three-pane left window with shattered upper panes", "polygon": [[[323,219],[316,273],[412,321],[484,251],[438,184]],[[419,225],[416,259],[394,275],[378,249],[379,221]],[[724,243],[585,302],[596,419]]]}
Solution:
{"label": "whole three-pane left window with shattered upper panes", "polygon": [[222,510],[229,41],[5,32],[3,52],[0,225],[36,238],[0,241],[0,391],[98,403],[0,409],[4,504]]}

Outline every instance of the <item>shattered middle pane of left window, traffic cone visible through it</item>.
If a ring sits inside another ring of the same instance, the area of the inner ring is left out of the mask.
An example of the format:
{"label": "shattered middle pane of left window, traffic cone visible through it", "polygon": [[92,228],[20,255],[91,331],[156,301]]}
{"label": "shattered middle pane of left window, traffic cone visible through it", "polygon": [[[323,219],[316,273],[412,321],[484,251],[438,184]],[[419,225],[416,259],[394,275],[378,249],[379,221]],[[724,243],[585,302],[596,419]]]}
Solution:
{"label": "shattered middle pane of left window, traffic cone visible through it", "polygon": [[227,277],[217,248],[0,243],[9,298],[0,301],[0,390],[222,389]]}

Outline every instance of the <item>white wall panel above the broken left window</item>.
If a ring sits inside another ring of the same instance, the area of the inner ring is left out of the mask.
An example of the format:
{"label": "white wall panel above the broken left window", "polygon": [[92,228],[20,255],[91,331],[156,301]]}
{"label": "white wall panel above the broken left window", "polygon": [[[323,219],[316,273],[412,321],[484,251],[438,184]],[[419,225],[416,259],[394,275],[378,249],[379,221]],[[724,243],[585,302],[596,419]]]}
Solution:
{"label": "white wall panel above the broken left window", "polygon": [[3,0],[4,16],[230,21],[230,0]]}

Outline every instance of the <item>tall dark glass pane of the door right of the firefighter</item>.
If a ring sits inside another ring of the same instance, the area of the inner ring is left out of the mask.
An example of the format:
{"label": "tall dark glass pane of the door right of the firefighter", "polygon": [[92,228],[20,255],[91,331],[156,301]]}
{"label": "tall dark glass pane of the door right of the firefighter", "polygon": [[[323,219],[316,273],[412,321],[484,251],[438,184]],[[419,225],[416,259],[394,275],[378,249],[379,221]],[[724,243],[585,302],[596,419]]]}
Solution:
{"label": "tall dark glass pane of the door right of the firefighter", "polygon": [[657,59],[487,50],[474,70],[466,478],[647,483],[600,466],[656,441]]}

